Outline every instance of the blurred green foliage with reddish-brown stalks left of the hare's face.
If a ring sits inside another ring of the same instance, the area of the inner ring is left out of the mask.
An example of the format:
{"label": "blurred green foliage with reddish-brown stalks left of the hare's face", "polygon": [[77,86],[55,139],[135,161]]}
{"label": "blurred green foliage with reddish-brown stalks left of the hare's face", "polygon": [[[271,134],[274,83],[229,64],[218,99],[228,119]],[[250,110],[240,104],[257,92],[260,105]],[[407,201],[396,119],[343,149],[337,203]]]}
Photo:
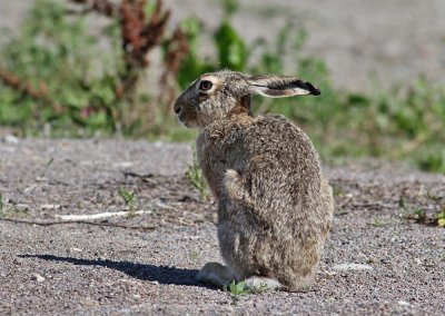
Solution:
{"label": "blurred green foliage with reddish-brown stalks left of the hare's face", "polygon": [[19,36],[1,51],[0,124],[23,134],[48,126],[56,136],[147,129],[154,109],[138,87],[169,11],[162,11],[160,0],[101,3],[88,12],[106,16],[109,24],[92,36],[82,14],[67,17],[65,3],[36,1]]}

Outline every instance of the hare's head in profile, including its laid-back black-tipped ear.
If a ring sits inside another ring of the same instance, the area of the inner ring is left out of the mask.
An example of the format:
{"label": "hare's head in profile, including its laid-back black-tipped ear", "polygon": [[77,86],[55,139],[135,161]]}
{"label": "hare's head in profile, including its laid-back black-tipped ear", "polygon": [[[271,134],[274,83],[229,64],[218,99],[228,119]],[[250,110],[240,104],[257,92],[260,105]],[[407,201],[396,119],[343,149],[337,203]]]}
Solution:
{"label": "hare's head in profile, including its laid-back black-tipped ear", "polygon": [[[239,108],[250,111],[250,96],[270,98],[301,95],[318,96],[310,82],[281,75],[249,76],[222,70],[205,73],[195,80],[175,102],[174,110],[187,127],[201,128]],[[237,111],[239,112],[239,111]]]}

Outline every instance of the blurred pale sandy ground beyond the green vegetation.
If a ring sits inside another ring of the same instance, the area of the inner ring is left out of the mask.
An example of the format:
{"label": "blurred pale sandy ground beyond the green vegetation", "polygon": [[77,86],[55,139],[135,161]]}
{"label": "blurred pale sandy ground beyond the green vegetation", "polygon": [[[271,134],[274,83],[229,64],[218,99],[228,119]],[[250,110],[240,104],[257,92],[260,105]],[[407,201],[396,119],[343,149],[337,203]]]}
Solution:
{"label": "blurred pale sandy ground beyond the green vegetation", "polygon": [[[17,29],[32,0],[0,0],[0,29]],[[170,27],[195,16],[212,31],[222,17],[217,0],[165,0]],[[327,61],[336,87],[373,92],[376,87],[406,85],[424,73],[445,82],[445,1],[443,0],[241,0],[233,17],[248,41],[274,41],[290,21],[309,39],[303,53]],[[97,22],[98,17],[91,17]],[[6,34],[4,31],[1,33]],[[0,37],[0,45],[7,39]],[[209,46],[202,42],[202,53]],[[156,56],[156,53],[155,53]],[[376,85],[377,83],[377,85]]]}

